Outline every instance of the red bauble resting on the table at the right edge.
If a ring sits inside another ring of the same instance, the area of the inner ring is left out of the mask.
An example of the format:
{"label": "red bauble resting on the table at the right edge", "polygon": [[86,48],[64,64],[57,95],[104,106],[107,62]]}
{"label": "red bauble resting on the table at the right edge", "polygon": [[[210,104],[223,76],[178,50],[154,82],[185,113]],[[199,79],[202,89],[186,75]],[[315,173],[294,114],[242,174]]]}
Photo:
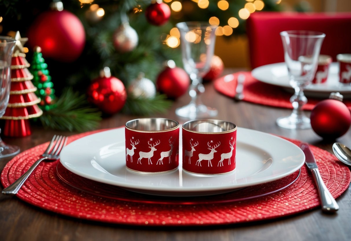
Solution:
{"label": "red bauble resting on the table at the right edge", "polygon": [[311,111],[314,132],[325,139],[344,135],[351,125],[351,113],[342,102],[340,93],[331,93],[330,99],[322,100]]}

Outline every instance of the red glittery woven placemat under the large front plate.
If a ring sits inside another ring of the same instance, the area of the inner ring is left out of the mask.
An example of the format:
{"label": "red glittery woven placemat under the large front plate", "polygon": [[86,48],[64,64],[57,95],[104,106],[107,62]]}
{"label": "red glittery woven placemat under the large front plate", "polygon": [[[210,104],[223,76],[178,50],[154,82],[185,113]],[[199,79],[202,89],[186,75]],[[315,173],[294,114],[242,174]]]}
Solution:
{"label": "red glittery woven placemat under the large front plate", "polygon": [[[95,132],[98,131],[71,136],[68,142]],[[299,144],[299,141],[290,141]],[[44,143],[35,146],[9,161],[1,173],[2,185],[7,187],[19,178],[40,157],[47,145]],[[316,146],[311,146],[311,149],[326,187],[333,197],[340,196],[350,184],[349,168],[329,152]],[[152,226],[201,226],[259,221],[320,206],[313,178],[305,165],[294,183],[273,194],[228,203],[179,205],[121,201],[86,193],[60,180],[56,171],[58,163],[59,161],[42,162],[16,196],[42,209],[79,219]],[[210,199],[211,196],[206,198]]]}

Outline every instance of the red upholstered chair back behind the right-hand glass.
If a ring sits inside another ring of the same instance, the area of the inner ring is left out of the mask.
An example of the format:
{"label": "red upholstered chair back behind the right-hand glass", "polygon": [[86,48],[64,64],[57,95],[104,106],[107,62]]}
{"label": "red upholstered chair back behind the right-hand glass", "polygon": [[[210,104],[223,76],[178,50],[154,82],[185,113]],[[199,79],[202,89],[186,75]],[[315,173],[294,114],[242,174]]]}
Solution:
{"label": "red upholstered chair back behind the right-hand glass", "polygon": [[351,13],[256,12],[246,20],[252,68],[284,62],[279,33],[285,30],[312,30],[326,37],[320,54],[336,61],[339,53],[351,53]]}

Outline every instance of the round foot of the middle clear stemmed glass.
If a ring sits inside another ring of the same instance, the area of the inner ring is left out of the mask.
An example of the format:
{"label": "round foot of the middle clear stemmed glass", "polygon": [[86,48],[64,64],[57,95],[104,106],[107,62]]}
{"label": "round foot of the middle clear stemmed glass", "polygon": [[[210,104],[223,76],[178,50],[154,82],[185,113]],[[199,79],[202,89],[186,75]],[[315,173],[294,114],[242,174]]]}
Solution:
{"label": "round foot of the middle clear stemmed glass", "polygon": [[196,104],[190,103],[183,107],[177,108],[176,115],[180,117],[190,118],[190,119],[208,118],[208,117],[217,116],[218,111],[206,105],[196,105]]}

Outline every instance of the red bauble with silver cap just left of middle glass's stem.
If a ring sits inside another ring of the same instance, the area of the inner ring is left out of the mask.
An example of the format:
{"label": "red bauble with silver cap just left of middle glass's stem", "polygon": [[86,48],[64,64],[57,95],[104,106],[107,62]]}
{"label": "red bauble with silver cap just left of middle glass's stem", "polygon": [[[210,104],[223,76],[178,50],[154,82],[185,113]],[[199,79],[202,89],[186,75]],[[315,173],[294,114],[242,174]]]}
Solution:
{"label": "red bauble with silver cap just left of middle glass's stem", "polygon": [[187,91],[190,78],[185,70],[176,67],[173,60],[167,62],[167,67],[159,73],[156,80],[158,91],[165,93],[169,98],[178,98]]}

